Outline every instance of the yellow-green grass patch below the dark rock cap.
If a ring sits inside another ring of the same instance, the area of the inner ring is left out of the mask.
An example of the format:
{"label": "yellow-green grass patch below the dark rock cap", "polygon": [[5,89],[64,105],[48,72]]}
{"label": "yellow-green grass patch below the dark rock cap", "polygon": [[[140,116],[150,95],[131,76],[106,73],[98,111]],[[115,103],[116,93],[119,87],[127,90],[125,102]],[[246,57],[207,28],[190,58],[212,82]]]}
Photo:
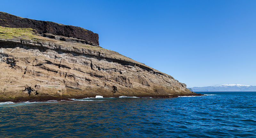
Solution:
{"label": "yellow-green grass patch below the dark rock cap", "polygon": [[35,30],[32,28],[10,28],[0,26],[0,37],[12,38],[12,37],[29,37],[35,36]]}

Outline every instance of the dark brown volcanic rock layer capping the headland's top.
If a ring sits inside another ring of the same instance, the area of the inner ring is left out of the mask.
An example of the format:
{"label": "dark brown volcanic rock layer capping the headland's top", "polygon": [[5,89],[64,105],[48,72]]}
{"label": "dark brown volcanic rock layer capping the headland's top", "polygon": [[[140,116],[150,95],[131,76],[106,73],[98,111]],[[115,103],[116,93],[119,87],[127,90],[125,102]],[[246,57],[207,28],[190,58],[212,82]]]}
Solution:
{"label": "dark brown volcanic rock layer capping the headland's top", "polygon": [[39,34],[51,33],[65,37],[73,37],[87,41],[87,44],[98,46],[99,35],[82,27],[62,25],[50,21],[39,21],[28,18],[21,18],[9,13],[0,11],[0,26],[12,28],[32,28]]}

